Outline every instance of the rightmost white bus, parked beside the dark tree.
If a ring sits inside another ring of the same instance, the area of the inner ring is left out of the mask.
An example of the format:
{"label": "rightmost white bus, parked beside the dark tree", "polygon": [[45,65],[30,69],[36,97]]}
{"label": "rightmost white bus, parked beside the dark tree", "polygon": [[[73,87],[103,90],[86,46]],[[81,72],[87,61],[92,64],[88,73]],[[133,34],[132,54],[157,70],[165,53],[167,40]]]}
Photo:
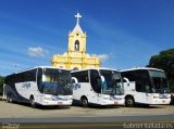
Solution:
{"label": "rightmost white bus, parked beside the dark tree", "polygon": [[139,67],[121,70],[124,82],[125,105],[170,104],[171,94],[165,73],[161,69]]}

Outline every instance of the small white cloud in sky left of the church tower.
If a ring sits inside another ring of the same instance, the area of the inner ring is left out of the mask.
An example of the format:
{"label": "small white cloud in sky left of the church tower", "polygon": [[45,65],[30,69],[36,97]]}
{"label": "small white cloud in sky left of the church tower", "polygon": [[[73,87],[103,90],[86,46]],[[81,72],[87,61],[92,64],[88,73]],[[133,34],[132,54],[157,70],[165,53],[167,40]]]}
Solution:
{"label": "small white cloud in sky left of the church tower", "polygon": [[44,50],[41,47],[36,47],[36,48],[28,48],[28,55],[29,56],[44,56],[45,54],[47,54],[48,51]]}

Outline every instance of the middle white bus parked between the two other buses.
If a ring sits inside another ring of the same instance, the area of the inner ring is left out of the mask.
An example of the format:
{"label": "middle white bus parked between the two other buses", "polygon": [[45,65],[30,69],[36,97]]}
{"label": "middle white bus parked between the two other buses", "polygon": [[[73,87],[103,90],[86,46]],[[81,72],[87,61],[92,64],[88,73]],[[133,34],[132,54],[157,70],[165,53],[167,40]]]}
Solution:
{"label": "middle white bus parked between the two other buses", "polygon": [[73,101],[83,106],[124,105],[123,81],[120,72],[108,68],[90,68],[72,72]]}

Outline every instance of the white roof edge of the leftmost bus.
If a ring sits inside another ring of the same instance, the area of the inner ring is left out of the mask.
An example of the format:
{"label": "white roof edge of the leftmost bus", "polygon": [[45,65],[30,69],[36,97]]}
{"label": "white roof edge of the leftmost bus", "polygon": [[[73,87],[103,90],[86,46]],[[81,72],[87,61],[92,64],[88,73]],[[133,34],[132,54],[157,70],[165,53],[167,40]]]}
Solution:
{"label": "white roof edge of the leftmost bus", "polygon": [[[20,74],[20,73],[27,72],[27,70],[30,70],[30,69],[35,69],[35,68],[54,68],[54,69],[64,69],[64,70],[69,70],[69,69],[65,69],[65,68],[53,67],[53,66],[36,66],[36,67],[30,67],[30,68],[27,68],[27,69],[20,70],[20,72],[16,72],[16,73],[12,73],[12,74],[10,74],[10,75]],[[10,75],[7,75],[7,76],[10,76]]]}

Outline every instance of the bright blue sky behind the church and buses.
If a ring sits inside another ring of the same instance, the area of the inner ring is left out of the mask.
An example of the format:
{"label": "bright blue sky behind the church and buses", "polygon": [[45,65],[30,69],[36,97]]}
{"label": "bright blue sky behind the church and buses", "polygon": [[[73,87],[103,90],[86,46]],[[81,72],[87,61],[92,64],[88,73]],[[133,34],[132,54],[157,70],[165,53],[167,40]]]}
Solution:
{"label": "bright blue sky behind the church and buses", "polygon": [[51,65],[67,51],[77,12],[102,67],[146,66],[174,48],[173,0],[0,0],[0,75]]}

